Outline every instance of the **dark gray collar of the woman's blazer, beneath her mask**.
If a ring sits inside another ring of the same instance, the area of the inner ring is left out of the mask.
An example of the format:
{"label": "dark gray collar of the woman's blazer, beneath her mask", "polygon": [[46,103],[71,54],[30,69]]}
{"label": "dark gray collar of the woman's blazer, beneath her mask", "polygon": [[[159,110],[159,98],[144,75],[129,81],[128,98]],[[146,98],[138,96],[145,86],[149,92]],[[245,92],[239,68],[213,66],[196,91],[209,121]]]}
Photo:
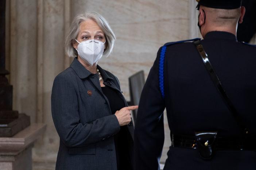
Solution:
{"label": "dark gray collar of the woman's blazer, beneath her mask", "polygon": [[[84,66],[77,60],[77,57],[74,58],[73,62],[71,63],[70,67],[75,71],[79,78],[87,78],[90,75],[94,75],[93,73],[89,72]],[[105,72],[99,65],[97,65],[103,80],[106,81],[107,79],[113,79],[109,77],[108,73]]]}

